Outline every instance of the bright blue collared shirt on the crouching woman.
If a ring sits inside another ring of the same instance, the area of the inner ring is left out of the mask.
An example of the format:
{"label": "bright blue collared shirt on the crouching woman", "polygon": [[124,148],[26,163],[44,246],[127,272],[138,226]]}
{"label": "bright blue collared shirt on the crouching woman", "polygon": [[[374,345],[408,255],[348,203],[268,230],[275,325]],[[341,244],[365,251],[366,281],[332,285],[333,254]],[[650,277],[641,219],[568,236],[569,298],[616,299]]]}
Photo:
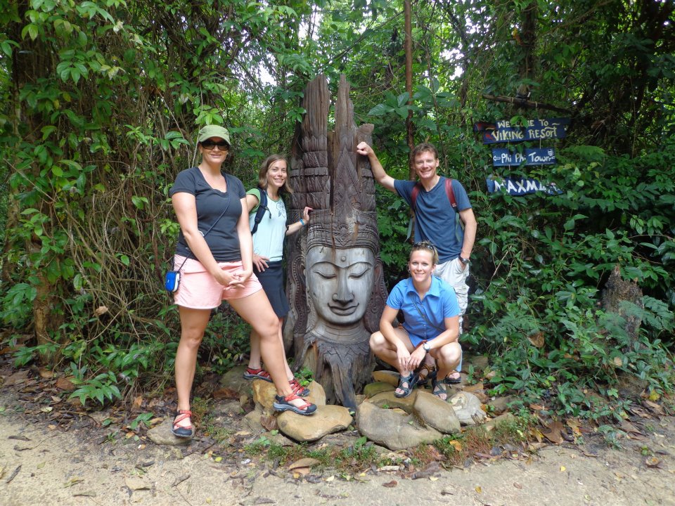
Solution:
{"label": "bright blue collared shirt on the crouching woman", "polygon": [[445,332],[445,318],[459,316],[455,291],[436,276],[431,277],[431,286],[422,300],[411,278],[399,281],[387,297],[387,306],[403,311],[406,318],[403,327],[413,346]]}

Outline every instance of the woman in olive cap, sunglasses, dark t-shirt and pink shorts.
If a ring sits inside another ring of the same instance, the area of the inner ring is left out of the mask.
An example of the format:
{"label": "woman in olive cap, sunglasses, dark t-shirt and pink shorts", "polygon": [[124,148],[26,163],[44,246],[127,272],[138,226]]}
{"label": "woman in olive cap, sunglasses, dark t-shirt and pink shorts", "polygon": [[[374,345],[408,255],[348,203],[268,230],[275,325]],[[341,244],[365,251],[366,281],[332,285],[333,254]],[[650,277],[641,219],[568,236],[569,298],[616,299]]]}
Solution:
{"label": "woman in olive cap, sunglasses, dark t-shirt and pink shorts", "polygon": [[[203,127],[198,134],[202,160],[181,171],[169,190],[181,233],[174,268],[181,282],[174,294],[181,318],[181,340],[176,351],[178,410],[172,432],[192,437],[190,391],[197,352],[211,310],[226,300],[260,335],[262,359],[274,381],[274,408],[311,415],[316,406],[293,394],[285,374],[283,348],[278,340],[279,320],[252,275],[253,246],[246,192],[239,179],[221,171],[230,148],[222,126]],[[182,265],[182,266],[181,266]]]}

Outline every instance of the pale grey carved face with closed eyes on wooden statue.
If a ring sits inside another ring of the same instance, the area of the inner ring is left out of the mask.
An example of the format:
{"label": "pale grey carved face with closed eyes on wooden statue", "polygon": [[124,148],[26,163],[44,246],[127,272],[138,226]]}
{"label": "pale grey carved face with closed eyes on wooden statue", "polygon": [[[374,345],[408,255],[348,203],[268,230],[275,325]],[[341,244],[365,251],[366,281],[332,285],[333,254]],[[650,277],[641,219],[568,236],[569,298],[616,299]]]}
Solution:
{"label": "pale grey carved face with closed eyes on wooden statue", "polygon": [[373,291],[374,264],[373,252],[365,247],[309,249],[307,294],[319,324],[353,327],[359,323]]}

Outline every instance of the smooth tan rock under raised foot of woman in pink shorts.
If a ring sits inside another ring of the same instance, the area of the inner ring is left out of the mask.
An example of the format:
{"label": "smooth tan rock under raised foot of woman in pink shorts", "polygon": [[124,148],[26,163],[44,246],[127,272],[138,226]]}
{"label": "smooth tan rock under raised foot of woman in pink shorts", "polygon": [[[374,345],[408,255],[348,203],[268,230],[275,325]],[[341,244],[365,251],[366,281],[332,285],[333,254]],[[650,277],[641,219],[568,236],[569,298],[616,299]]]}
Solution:
{"label": "smooth tan rock under raised foot of woman in pink shorts", "polygon": [[326,434],[347,429],[352,415],[342,406],[321,406],[311,416],[284,411],[277,417],[279,430],[295,441],[316,441]]}

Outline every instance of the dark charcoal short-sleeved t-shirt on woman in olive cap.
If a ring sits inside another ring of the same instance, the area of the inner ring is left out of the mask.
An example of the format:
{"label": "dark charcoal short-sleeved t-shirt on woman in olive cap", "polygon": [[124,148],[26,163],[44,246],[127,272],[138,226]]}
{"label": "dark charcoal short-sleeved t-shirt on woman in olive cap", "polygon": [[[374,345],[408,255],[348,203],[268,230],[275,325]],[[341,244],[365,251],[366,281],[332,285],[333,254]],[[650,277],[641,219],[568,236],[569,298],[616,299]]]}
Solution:
{"label": "dark charcoal short-sleeved t-shirt on woman in olive cap", "polygon": [[[212,188],[201,171],[197,167],[191,167],[176,176],[174,186],[169,190],[169,197],[175,193],[194,195],[197,205],[197,226],[202,235],[216,223],[204,237],[213,258],[216,261],[240,261],[237,221],[241,216],[240,199],[245,197],[246,190],[235,176],[225,173],[223,176],[227,184],[226,192]],[[221,217],[224,206],[227,206],[227,209]],[[178,236],[176,254],[194,258],[182,231]]]}

